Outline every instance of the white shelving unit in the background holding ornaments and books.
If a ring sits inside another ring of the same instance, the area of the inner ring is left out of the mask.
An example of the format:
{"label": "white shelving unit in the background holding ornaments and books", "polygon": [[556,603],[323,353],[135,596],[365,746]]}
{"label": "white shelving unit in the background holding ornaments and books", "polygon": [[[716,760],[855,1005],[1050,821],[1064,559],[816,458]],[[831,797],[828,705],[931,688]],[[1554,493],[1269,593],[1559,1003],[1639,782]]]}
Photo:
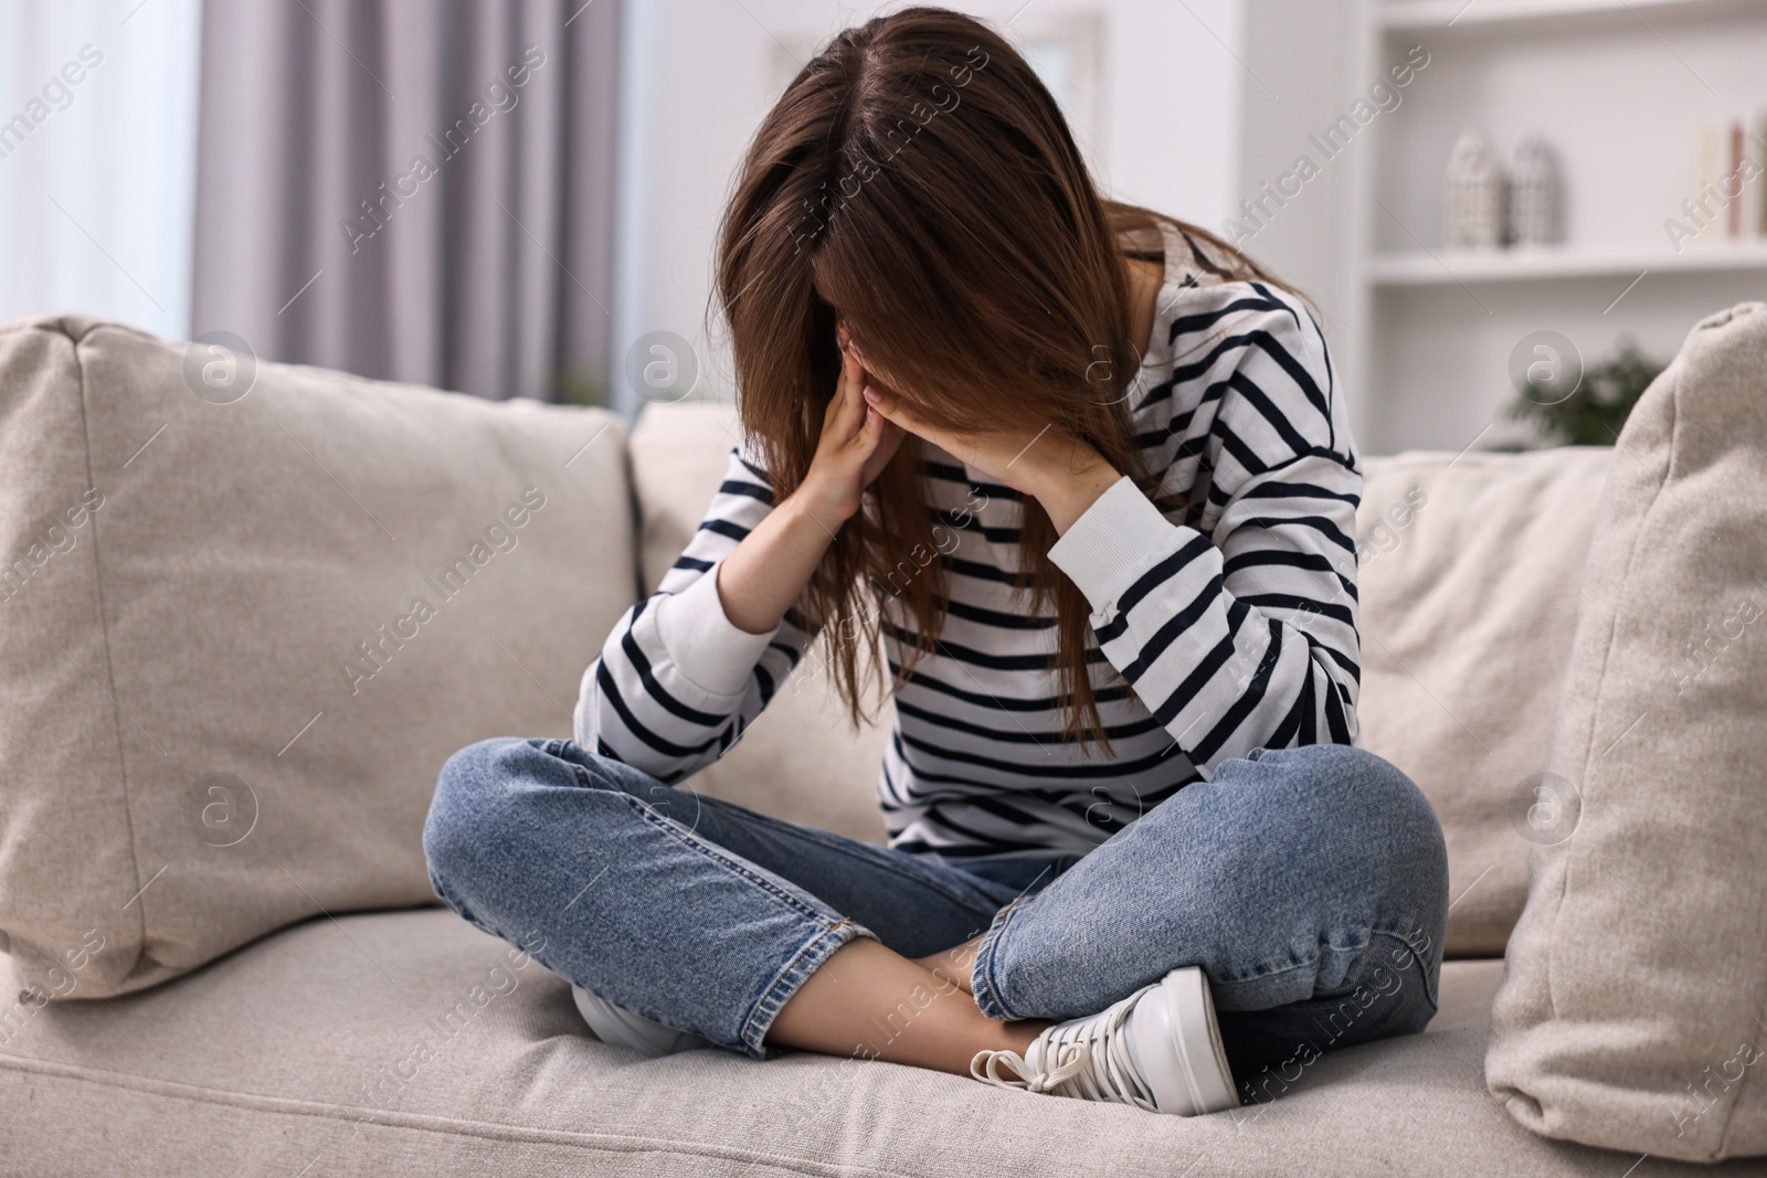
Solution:
{"label": "white shelving unit in the background holding ornaments and books", "polygon": [[[1585,362],[1622,337],[1668,360],[1705,314],[1767,298],[1767,237],[1756,228],[1767,177],[1744,189],[1742,238],[1719,226],[1675,249],[1665,228],[1698,196],[1700,129],[1714,132],[1728,171],[1732,122],[1753,134],[1767,115],[1767,0],[1346,7],[1361,30],[1334,65],[1345,111],[1412,46],[1430,55],[1401,102],[1331,164],[1327,293],[1364,452],[1458,450],[1500,436],[1490,427],[1514,396],[1509,351],[1530,332],[1562,332]],[[1315,102],[1293,138],[1338,113]],[[1486,131],[1505,157],[1521,134],[1553,145],[1564,244],[1442,247],[1442,171],[1465,127]]]}

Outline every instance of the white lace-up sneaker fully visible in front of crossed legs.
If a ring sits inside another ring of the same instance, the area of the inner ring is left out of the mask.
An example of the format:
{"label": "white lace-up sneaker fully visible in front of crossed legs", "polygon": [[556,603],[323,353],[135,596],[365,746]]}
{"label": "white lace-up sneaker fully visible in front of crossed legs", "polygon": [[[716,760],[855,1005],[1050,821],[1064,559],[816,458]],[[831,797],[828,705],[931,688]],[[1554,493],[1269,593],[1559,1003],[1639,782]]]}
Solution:
{"label": "white lace-up sneaker fully visible in front of crossed legs", "polygon": [[[1004,1069],[1016,1079],[1004,1076]],[[1099,1014],[1057,1023],[1023,1056],[977,1053],[970,1076],[998,1088],[1111,1100],[1177,1116],[1239,1107],[1209,978],[1198,966],[1173,970]]]}

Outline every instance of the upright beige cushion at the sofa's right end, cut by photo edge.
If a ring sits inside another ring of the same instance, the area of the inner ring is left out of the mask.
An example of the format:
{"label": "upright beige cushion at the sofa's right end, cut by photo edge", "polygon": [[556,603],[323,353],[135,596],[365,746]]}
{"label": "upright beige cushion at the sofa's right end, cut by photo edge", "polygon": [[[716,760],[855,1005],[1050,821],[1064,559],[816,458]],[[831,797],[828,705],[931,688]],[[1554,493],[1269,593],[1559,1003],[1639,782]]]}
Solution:
{"label": "upright beige cushion at the sofa's right end, cut by photo edge", "polygon": [[1488,1076],[1523,1125],[1767,1153],[1767,304],[1689,332],[1620,433]]}

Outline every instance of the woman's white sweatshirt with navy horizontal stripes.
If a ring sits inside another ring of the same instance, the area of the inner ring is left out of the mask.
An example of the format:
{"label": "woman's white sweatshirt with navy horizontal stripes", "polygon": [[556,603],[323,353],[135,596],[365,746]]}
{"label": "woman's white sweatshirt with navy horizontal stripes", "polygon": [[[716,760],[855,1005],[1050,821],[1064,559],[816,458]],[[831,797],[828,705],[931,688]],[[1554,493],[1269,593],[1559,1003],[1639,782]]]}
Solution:
{"label": "woman's white sweatshirt with navy horizontal stripes", "polygon": [[[1325,339],[1292,293],[1221,274],[1161,223],[1166,276],[1126,396],[1163,514],[1127,477],[1050,547],[1090,604],[1088,668],[1111,754],[1064,742],[1055,618],[1020,588],[1023,496],[926,445],[947,618],[896,687],[878,774],[891,846],[947,860],[1083,855],[1256,747],[1350,744],[1361,470]],[[795,613],[739,631],[717,562],[774,493],[733,447],[705,521],[583,675],[576,738],[677,782],[726,752],[786,678],[827,673]],[[876,586],[891,671],[915,645]],[[806,657],[815,669],[799,669]]]}

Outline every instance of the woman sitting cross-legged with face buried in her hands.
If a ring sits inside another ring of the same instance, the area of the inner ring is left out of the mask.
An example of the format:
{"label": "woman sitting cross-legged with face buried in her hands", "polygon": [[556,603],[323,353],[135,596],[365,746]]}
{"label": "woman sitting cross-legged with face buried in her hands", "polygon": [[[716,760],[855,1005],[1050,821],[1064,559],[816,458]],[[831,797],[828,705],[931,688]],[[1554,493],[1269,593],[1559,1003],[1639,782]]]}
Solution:
{"label": "woman sitting cross-legged with face buried in her hands", "polygon": [[[1101,200],[1025,60],[938,9],[790,85],[717,295],[746,438],[576,738],[447,763],[436,892],[652,1054],[1193,1114],[1422,1030],[1445,851],[1348,747],[1361,473],[1306,304]],[[818,638],[855,721],[889,653],[887,848],[675,788]]]}

